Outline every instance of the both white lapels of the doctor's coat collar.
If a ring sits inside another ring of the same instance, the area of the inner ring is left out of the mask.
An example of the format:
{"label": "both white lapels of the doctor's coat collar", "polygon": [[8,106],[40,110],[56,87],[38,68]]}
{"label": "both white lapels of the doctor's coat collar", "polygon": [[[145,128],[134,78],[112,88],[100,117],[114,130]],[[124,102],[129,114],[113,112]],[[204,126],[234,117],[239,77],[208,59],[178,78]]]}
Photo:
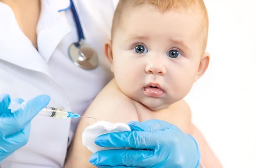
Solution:
{"label": "both white lapels of the doctor's coat collar", "polygon": [[56,6],[55,0],[41,0],[42,9],[37,25],[37,43],[40,54],[21,31],[12,9],[0,2],[0,60],[45,73],[53,79],[47,61],[61,39],[71,30],[65,20],[66,17],[58,12],[58,10],[67,8],[67,1],[69,2],[69,0],[63,0],[61,5]]}

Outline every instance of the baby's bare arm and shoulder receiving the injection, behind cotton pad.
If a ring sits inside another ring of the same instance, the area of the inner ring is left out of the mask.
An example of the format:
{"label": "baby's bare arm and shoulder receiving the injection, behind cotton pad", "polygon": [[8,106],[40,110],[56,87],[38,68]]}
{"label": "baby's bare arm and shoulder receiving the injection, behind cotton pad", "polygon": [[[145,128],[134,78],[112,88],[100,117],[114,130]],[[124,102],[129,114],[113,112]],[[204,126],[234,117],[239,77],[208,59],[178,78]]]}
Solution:
{"label": "baby's bare arm and shoulder receiving the injection, behind cotton pad", "polygon": [[112,123],[138,120],[133,102],[122,94],[113,80],[98,94],[84,115],[97,119],[82,118],[79,122],[65,168],[95,168],[88,161],[92,153],[82,144],[85,127],[99,120]]}

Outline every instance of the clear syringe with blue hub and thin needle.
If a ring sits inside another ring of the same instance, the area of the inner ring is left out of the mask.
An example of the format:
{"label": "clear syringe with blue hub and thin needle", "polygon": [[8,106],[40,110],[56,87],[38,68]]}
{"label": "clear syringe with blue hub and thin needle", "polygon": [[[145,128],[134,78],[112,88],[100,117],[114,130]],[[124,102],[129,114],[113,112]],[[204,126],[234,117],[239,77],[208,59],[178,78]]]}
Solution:
{"label": "clear syringe with blue hub and thin needle", "polygon": [[[52,108],[52,107],[43,108],[38,113],[38,115],[54,117],[54,118],[58,118],[58,119],[86,117],[86,116],[80,116],[79,114],[76,114],[73,112],[69,112],[69,111],[65,110],[64,108]],[[86,118],[96,119],[94,117],[86,117]]]}

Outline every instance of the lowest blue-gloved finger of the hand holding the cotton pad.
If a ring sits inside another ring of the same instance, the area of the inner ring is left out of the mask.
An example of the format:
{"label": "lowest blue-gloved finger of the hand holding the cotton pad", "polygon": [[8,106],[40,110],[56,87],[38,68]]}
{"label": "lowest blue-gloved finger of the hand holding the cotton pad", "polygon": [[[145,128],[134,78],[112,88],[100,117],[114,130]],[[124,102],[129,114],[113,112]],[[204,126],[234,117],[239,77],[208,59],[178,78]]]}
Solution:
{"label": "lowest blue-gloved finger of the hand holding the cotton pad", "polygon": [[150,168],[150,163],[145,162],[144,159],[153,155],[154,151],[150,150],[112,149],[94,153],[90,157],[89,162],[97,167],[108,165],[112,167],[128,166],[133,168]]}

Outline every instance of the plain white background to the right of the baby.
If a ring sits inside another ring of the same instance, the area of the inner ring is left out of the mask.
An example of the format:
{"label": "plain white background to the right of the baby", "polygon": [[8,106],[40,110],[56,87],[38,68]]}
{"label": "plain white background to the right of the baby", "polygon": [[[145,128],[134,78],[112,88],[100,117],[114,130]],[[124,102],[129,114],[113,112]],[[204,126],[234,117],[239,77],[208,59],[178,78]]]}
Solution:
{"label": "plain white background to the right of the baby", "polygon": [[204,0],[207,72],[185,100],[224,168],[256,168],[256,0]]}

